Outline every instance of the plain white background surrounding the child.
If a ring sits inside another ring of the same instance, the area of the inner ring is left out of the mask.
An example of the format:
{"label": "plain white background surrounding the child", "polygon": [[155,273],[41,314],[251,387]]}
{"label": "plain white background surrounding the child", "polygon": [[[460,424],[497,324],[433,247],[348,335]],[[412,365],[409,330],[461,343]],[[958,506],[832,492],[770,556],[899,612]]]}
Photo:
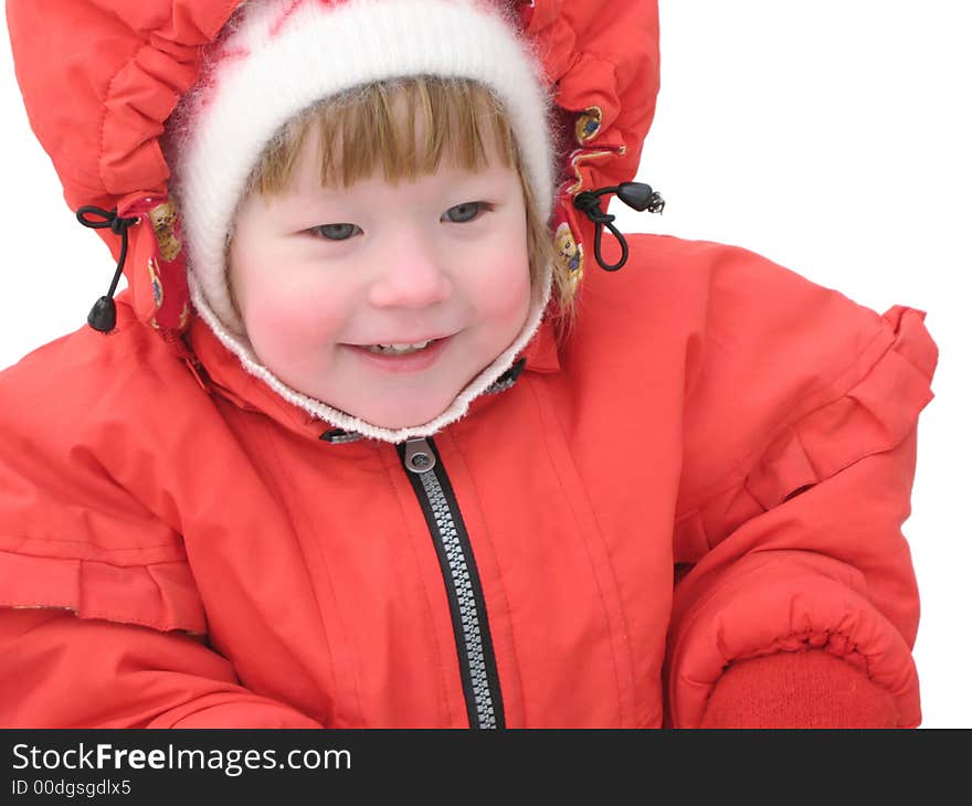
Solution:
{"label": "plain white background surrounding the child", "polygon": [[[905,523],[925,728],[972,727],[972,57],[955,0],[662,0],[662,93],[624,231],[738,244],[884,312],[928,312],[937,395]],[[84,325],[114,271],[33,139],[0,44],[0,368]],[[593,271],[593,269],[592,269]],[[123,280],[124,283],[124,280]]]}

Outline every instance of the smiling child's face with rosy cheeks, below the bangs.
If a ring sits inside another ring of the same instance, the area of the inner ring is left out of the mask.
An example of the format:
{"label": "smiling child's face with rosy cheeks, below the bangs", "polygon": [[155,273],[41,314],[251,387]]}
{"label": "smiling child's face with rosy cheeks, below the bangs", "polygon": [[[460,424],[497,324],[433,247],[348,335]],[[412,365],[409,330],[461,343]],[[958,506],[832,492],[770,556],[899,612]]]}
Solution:
{"label": "smiling child's face with rosy cheeks, below the bangs", "polygon": [[[485,204],[476,204],[485,202]],[[387,428],[429,422],[520,332],[530,305],[519,177],[443,160],[321,188],[316,137],[283,195],[247,197],[230,282],[261,362],[292,388]],[[442,339],[410,356],[362,346]]]}

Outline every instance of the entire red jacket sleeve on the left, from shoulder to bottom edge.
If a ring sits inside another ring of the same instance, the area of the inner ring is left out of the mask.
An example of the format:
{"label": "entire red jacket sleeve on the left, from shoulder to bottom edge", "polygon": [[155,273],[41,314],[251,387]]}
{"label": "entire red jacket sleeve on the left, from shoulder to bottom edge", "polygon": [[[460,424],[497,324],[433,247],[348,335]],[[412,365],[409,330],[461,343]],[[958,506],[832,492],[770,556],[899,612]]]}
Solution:
{"label": "entire red jacket sleeve on the left, from shoulder to bottom edge", "polygon": [[138,342],[87,331],[0,373],[0,727],[319,727],[207,645],[171,474],[118,409]]}

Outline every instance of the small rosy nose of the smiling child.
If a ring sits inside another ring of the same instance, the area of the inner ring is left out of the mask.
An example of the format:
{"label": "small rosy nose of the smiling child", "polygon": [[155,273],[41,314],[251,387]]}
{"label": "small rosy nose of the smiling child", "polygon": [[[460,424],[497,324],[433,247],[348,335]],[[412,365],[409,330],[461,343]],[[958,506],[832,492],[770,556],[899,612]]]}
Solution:
{"label": "small rosy nose of the smiling child", "polygon": [[384,266],[369,289],[376,308],[426,308],[452,296],[446,257],[418,232],[393,238],[383,255]]}

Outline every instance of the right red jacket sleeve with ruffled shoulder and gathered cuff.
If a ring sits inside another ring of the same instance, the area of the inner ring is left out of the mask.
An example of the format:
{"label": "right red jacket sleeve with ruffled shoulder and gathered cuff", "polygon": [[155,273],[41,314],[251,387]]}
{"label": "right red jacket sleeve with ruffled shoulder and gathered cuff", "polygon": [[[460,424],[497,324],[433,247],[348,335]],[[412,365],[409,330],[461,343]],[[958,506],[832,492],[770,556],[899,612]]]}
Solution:
{"label": "right red jacket sleeve with ruffled shoulder and gathered cuff", "polygon": [[753,708],[746,678],[813,722],[809,689],[767,683],[774,668],[793,679],[794,664],[757,661],[802,653],[816,664],[796,672],[806,686],[874,685],[876,720],[888,692],[898,724],[917,727],[919,600],[901,526],[938,360],[926,314],[878,316],[744,250],[701,248],[711,269],[684,422],[666,724],[699,727],[712,704],[722,715],[708,722],[723,725],[728,700]]}

